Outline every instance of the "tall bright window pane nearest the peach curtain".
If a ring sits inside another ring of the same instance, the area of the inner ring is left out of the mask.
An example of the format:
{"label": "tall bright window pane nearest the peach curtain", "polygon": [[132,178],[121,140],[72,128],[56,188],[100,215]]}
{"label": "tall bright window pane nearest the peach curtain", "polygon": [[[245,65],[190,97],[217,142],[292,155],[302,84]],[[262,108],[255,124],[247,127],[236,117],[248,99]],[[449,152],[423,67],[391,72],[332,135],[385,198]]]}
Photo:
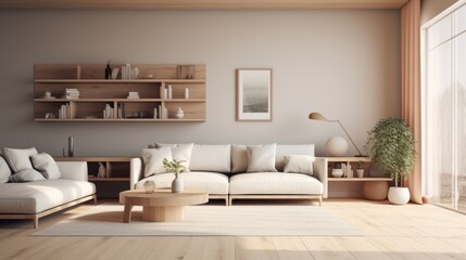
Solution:
{"label": "tall bright window pane nearest the peach curtain", "polygon": [[452,43],[429,51],[428,66],[428,171],[432,200],[452,204]]}

